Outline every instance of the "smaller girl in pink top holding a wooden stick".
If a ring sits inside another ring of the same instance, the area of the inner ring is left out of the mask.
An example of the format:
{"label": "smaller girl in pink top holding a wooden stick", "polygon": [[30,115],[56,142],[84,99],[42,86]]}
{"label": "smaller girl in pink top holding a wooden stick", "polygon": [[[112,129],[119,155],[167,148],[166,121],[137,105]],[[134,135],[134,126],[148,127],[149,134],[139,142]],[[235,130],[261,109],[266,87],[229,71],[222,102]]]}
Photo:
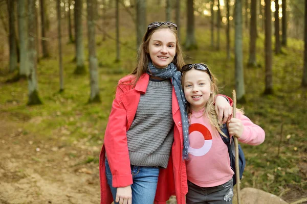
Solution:
{"label": "smaller girl in pink top holding a wooden stick", "polygon": [[[218,92],[216,79],[205,64],[185,65],[182,73],[190,121],[186,201],[188,204],[232,203],[234,172],[213,106]],[[264,130],[237,112],[237,118],[228,121],[229,134],[243,143],[261,144],[265,139]]]}

